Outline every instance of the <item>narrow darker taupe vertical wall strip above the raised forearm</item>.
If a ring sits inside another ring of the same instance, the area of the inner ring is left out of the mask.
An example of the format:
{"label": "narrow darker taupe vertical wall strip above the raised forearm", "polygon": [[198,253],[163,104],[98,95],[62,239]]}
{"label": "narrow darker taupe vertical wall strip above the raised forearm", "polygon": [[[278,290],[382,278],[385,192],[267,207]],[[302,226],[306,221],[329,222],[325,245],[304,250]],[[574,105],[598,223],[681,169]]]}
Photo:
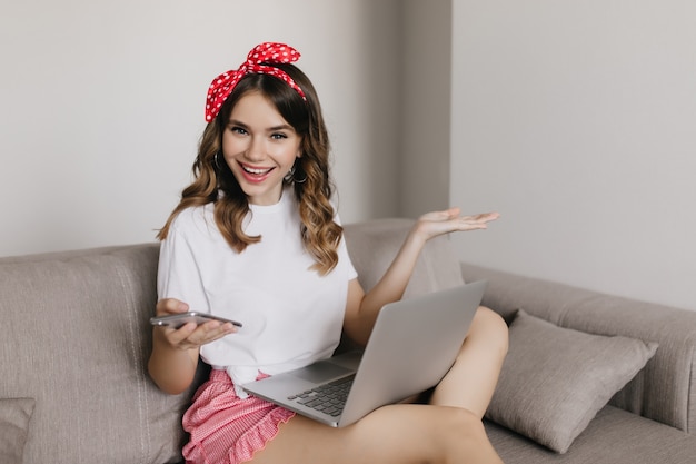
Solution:
{"label": "narrow darker taupe vertical wall strip above the raised forearm", "polygon": [[400,6],[398,213],[416,218],[449,203],[451,1]]}

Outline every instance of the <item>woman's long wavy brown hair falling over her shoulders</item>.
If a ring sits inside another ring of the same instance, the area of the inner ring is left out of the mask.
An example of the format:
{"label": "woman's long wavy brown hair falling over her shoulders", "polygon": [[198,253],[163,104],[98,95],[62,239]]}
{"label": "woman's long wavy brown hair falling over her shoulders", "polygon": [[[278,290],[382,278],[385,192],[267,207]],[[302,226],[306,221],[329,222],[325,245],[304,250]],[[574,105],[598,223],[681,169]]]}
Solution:
{"label": "woman's long wavy brown hair falling over her shoulders", "polygon": [[[325,275],[338,263],[338,244],[342,227],[334,221],[334,207],[330,199],[334,184],[329,175],[329,138],[321,115],[317,92],[309,78],[294,65],[274,65],[288,73],[302,89],[307,101],[282,80],[264,73],[245,76],[227,98],[218,116],[203,130],[198,156],[193,161],[193,181],[181,194],[181,201],[173,209],[157,238],[167,238],[171,223],[186,208],[215,204],[215,220],[220,233],[237,253],[249,245],[259,243],[260,236],[249,236],[242,229],[243,218],[250,214],[249,201],[232,171],[220,155],[222,134],[226,130],[235,105],[245,95],[258,91],[276,107],[282,118],[301,137],[302,156],[295,161],[294,177],[304,181],[288,182],[299,205],[302,241],[307,251],[315,258],[314,269]],[[222,195],[219,195],[221,192]]]}

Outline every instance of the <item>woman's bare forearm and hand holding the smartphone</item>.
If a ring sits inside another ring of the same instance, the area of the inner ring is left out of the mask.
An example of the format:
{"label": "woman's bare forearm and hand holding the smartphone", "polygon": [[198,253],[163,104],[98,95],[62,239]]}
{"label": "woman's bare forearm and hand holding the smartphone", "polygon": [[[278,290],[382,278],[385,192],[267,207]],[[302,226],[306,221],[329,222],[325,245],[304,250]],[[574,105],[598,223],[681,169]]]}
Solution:
{"label": "woman's bare forearm and hand holding the smartphone", "polygon": [[[177,299],[157,303],[157,315],[186,313],[188,305]],[[155,327],[152,354],[148,363],[150,377],[163,392],[176,395],[193,382],[200,346],[237,332],[231,324],[211,320],[197,326],[189,323],[179,329]]]}

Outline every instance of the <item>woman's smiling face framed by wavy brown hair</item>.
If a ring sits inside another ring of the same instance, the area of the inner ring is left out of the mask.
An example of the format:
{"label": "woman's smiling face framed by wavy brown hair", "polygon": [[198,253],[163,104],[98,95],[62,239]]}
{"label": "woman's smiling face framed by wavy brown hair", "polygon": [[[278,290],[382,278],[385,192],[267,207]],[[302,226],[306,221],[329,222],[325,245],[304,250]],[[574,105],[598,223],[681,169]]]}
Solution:
{"label": "woman's smiling face framed by wavy brown hair", "polygon": [[222,134],[222,154],[249,203],[275,205],[300,156],[301,137],[260,92],[241,97]]}

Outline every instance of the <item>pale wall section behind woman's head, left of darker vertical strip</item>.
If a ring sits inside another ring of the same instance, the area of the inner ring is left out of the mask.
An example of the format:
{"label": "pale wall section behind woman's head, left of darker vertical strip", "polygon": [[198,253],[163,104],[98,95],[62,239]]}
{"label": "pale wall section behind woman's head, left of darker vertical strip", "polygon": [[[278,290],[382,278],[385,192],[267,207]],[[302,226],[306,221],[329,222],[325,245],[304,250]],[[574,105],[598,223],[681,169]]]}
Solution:
{"label": "pale wall section behind woman's head, left of darker vertical strip", "polygon": [[0,256],[153,240],[208,85],[268,40],[304,55],[344,221],[392,215],[396,2],[372,3],[2,0]]}

